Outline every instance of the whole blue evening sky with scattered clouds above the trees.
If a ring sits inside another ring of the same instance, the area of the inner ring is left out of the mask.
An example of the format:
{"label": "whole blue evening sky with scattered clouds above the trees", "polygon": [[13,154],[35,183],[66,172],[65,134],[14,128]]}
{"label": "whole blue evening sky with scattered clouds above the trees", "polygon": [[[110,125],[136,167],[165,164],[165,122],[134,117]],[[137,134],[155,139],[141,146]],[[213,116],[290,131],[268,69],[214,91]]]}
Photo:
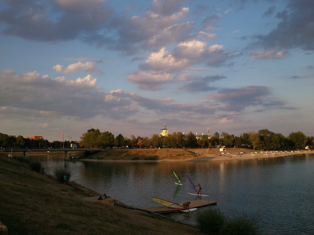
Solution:
{"label": "whole blue evening sky with scattered clouds above the trees", "polygon": [[0,0],[0,132],[314,135],[312,0]]}

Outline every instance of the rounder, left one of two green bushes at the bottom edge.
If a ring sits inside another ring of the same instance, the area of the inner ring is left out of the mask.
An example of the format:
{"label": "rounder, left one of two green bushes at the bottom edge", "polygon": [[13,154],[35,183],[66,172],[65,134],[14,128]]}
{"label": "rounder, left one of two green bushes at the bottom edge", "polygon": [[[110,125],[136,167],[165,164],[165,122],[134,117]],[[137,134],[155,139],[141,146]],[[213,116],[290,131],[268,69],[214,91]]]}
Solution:
{"label": "rounder, left one of two green bushes at the bottom edge", "polygon": [[226,217],[219,208],[212,209],[209,207],[198,211],[196,215],[198,228],[206,234],[221,234],[225,220]]}

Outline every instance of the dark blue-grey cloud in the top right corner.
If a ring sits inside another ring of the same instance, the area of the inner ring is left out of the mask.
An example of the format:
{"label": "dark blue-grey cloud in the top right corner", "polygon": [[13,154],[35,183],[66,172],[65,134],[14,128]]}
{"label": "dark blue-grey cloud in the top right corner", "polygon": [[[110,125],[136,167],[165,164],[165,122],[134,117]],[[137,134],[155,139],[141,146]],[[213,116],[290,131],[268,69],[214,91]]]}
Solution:
{"label": "dark blue-grey cloud in the top right corner", "polygon": [[299,48],[314,50],[314,1],[288,1],[287,7],[276,14],[281,21],[269,34],[257,35],[253,46],[277,50]]}

